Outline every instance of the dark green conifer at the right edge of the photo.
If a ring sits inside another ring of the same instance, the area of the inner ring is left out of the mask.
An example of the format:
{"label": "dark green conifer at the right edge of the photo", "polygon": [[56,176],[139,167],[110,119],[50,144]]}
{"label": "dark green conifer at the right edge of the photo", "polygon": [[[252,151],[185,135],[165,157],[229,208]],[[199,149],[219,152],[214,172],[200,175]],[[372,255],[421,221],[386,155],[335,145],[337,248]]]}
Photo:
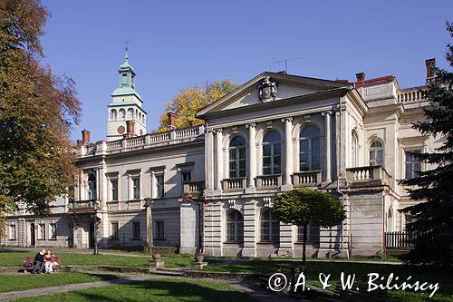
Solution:
{"label": "dark green conifer at the right edge of the photo", "polygon": [[[447,23],[453,38],[453,24]],[[453,66],[453,45],[447,45],[446,58]],[[417,205],[403,209],[413,222],[407,230],[417,235],[415,248],[407,255],[410,265],[452,266],[453,258],[453,73],[436,70],[436,81],[429,83],[424,109],[426,120],[413,124],[422,135],[443,137],[445,142],[433,152],[413,154],[420,161],[437,168],[419,172],[418,177],[403,180],[410,186],[410,199],[420,200]]]}

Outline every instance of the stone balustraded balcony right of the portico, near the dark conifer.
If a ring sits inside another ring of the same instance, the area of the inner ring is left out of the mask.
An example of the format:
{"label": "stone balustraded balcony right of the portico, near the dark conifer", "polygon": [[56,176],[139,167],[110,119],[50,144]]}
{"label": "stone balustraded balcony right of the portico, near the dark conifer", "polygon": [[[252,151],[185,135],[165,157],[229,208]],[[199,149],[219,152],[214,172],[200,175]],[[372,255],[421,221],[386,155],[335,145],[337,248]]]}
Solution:
{"label": "stone balustraded balcony right of the portico, near the dark conifer", "polygon": [[392,178],[381,166],[366,166],[346,169],[350,187],[392,186]]}

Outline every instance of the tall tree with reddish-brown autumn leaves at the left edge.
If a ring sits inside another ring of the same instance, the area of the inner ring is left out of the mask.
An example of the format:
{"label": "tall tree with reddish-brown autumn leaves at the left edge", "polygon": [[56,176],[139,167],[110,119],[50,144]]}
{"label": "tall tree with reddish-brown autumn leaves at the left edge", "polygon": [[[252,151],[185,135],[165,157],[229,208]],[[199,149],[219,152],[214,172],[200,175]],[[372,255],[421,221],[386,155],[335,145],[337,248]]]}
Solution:
{"label": "tall tree with reddish-brown autumn leaves at the left edge", "polygon": [[18,203],[35,214],[73,183],[75,84],[43,67],[39,38],[49,13],[39,0],[0,3],[0,227]]}

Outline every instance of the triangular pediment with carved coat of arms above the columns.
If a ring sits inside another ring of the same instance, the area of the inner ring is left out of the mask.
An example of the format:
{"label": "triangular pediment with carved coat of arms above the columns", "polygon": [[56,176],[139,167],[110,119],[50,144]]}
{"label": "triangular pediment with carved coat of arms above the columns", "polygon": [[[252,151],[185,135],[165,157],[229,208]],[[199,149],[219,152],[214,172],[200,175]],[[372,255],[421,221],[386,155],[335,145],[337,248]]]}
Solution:
{"label": "triangular pediment with carved coat of arms above the columns", "polygon": [[231,93],[197,113],[203,118],[208,113],[230,111],[268,102],[280,102],[294,97],[347,88],[349,83],[315,79],[284,73],[261,73],[237,87]]}

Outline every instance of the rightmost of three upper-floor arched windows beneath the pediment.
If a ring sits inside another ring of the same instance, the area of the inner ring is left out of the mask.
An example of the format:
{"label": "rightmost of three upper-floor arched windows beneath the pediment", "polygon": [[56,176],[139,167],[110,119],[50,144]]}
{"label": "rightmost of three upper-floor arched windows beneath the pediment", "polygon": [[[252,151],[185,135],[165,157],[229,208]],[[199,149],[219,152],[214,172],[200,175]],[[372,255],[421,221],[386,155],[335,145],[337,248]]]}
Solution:
{"label": "rightmost of three upper-floor arched windows beneath the pediment", "polygon": [[307,126],[301,132],[300,170],[320,170],[320,133],[315,126]]}

